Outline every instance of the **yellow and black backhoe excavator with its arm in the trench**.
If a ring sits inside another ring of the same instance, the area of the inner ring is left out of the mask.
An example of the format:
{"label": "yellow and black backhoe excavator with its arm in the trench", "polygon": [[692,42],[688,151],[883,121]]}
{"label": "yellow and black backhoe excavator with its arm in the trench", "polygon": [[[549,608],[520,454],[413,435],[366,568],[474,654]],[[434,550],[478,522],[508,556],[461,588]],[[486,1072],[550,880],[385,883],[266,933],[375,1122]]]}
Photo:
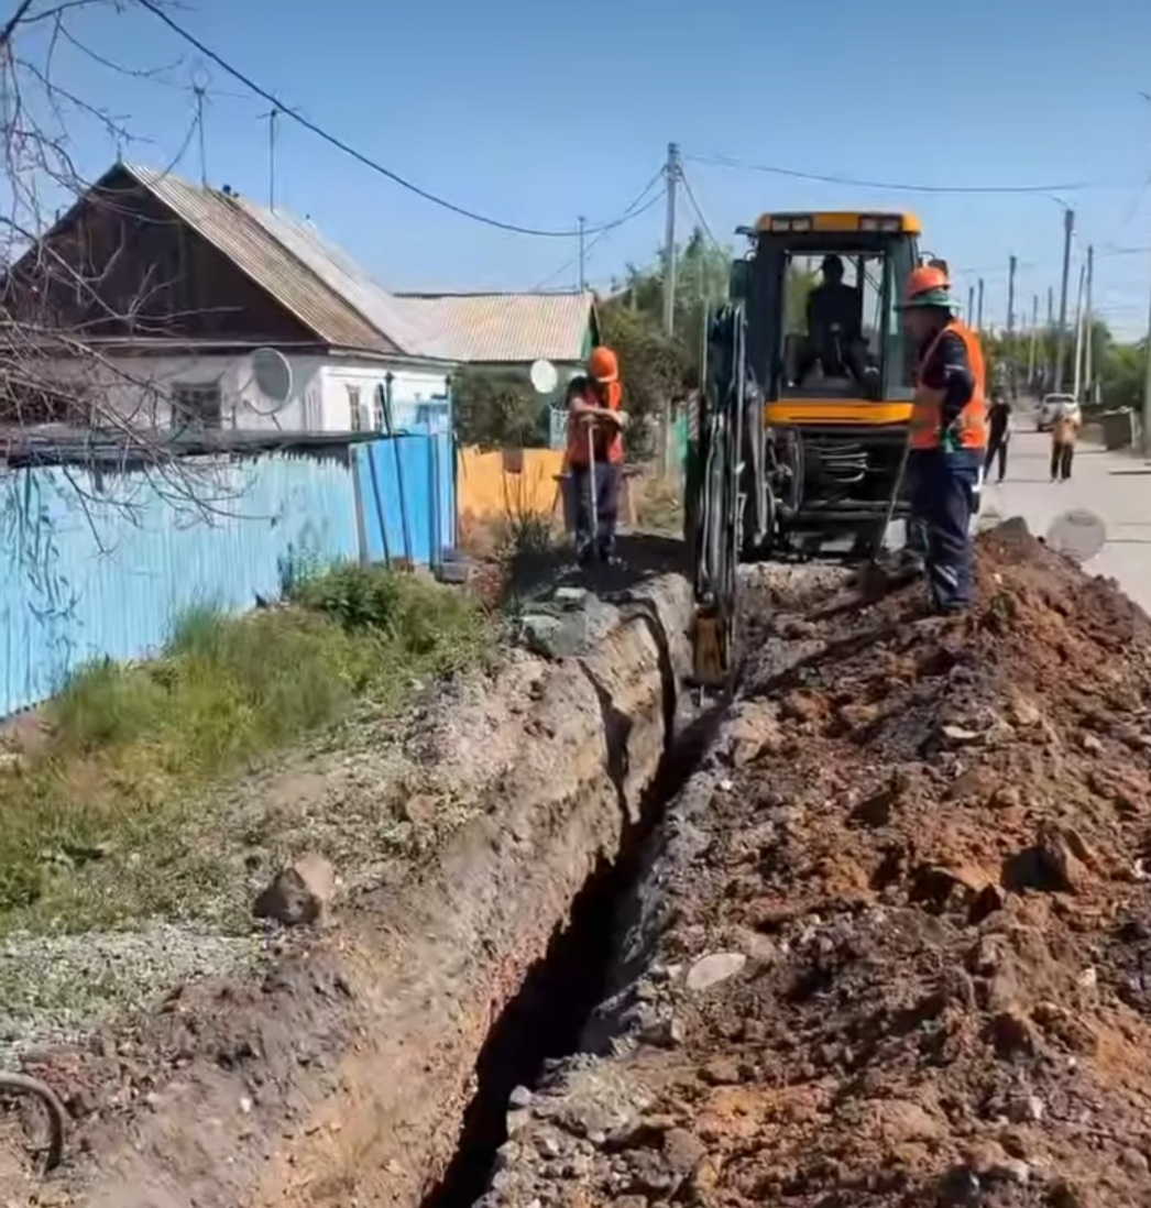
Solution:
{"label": "yellow and black backhoe excavator with its arm in the trench", "polygon": [[[694,679],[729,681],[739,562],[874,558],[906,516],[914,350],[897,310],[909,214],[765,214],[707,316],[688,422]],[[946,269],[942,261],[932,261]]]}

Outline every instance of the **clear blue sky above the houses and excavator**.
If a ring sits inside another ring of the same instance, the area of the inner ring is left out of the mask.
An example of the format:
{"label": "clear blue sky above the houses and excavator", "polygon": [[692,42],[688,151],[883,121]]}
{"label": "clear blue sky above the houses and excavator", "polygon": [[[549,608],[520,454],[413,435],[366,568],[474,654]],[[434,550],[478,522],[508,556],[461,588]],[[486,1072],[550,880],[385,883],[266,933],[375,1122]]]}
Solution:
{"label": "clear blue sky above the houses and excavator", "polygon": [[[42,0],[43,6],[47,0]],[[6,0],[7,6],[14,0]],[[501,220],[571,228],[617,217],[658,170],[669,140],[721,240],[768,209],[906,208],[957,273],[982,273],[1002,323],[1006,265],[1018,308],[1058,286],[1059,202],[1046,196],[915,194],[716,164],[928,185],[1083,182],[1066,191],[1077,248],[1094,243],[1095,298],[1124,333],[1146,325],[1151,286],[1151,6],[1095,0],[186,0],[176,19],[236,66],[366,155],[429,191]],[[207,173],[263,201],[262,100],[146,11],[80,10],[72,34],[134,69],[128,79],[71,43],[57,79],[130,126],[126,157],[169,164],[208,88]],[[574,240],[493,231],[437,209],[279,123],[278,202],[310,217],[395,289],[574,284]],[[115,145],[71,129],[93,175]],[[179,170],[200,175],[198,140]],[[691,211],[681,213],[687,223]],[[662,237],[657,205],[593,249],[606,284]],[[1116,254],[1114,249],[1146,249]],[[1072,272],[1072,295],[1075,273]]]}

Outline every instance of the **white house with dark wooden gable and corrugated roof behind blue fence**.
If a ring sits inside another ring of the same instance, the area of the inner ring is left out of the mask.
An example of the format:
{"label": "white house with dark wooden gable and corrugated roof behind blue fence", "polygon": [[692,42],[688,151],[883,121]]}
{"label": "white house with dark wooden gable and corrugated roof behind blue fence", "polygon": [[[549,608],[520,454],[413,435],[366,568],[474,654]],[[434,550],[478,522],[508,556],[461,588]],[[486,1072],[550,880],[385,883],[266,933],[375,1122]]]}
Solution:
{"label": "white house with dark wooden gable and corrugated roof behind blue fence", "polygon": [[[309,222],[117,163],[16,265],[4,304],[79,396],[132,424],[447,422],[459,345]],[[109,402],[111,400],[111,403]]]}

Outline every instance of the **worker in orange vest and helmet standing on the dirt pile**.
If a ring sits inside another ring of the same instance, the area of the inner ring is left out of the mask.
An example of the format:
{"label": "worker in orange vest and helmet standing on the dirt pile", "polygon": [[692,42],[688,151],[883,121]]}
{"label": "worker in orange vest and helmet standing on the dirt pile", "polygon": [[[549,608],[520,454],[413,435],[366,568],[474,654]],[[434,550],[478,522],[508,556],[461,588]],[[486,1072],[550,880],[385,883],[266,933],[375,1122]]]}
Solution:
{"label": "worker in orange vest and helmet standing on the dirt pile", "polygon": [[955,318],[941,266],[912,271],[900,308],[918,365],[908,436],[909,535],[918,538],[936,610],[961,612],[972,602],[971,516],[987,455],[983,350]]}

